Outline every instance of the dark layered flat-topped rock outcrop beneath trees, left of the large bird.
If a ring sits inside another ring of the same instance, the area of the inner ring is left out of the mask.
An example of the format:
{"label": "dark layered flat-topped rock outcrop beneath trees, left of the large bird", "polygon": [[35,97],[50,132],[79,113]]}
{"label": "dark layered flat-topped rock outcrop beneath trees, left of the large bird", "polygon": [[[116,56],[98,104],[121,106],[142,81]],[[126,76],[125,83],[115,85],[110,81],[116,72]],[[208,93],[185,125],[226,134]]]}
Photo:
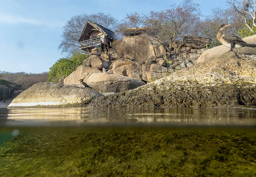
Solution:
{"label": "dark layered flat-topped rock outcrop beneath trees, left of the large bird", "polygon": [[210,43],[210,39],[207,37],[187,35],[182,38],[182,42],[193,49],[202,49],[206,47],[206,44]]}

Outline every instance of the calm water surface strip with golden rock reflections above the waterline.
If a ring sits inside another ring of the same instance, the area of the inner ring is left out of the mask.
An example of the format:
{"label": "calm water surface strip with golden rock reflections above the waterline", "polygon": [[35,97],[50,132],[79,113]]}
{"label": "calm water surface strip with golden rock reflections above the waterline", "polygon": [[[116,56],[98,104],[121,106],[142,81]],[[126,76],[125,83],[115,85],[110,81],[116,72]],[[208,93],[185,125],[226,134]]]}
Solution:
{"label": "calm water surface strip with golden rock reflections above the waterline", "polygon": [[[256,125],[256,109],[58,108],[0,109],[2,125]],[[56,124],[55,124],[56,125]]]}

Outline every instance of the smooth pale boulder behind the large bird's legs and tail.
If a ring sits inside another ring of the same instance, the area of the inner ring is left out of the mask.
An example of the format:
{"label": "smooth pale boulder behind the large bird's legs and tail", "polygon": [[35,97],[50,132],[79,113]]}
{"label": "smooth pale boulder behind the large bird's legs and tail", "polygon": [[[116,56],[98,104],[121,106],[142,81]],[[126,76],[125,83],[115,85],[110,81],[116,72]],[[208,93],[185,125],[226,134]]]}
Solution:
{"label": "smooth pale boulder behind the large bird's legs and tail", "polygon": [[[243,38],[243,41],[249,43],[249,44],[256,44],[256,35],[252,35],[246,38]],[[215,57],[221,56],[223,53],[229,51],[230,48],[220,45],[211,49],[208,49],[204,51],[201,56],[198,58],[197,63],[202,63],[208,60],[212,60]],[[256,54],[256,48],[250,48],[250,47],[242,47],[240,49],[233,49],[234,51],[237,51],[238,53],[250,53],[250,54]]]}

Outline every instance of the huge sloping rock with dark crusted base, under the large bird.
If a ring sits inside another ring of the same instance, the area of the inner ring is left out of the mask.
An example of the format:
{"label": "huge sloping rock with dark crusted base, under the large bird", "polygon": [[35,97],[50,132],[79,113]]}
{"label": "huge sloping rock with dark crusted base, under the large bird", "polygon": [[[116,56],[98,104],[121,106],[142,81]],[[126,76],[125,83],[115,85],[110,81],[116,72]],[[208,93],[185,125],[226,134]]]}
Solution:
{"label": "huge sloping rock with dark crusted base, under the large bird", "polygon": [[256,108],[256,55],[228,52],[89,106]]}

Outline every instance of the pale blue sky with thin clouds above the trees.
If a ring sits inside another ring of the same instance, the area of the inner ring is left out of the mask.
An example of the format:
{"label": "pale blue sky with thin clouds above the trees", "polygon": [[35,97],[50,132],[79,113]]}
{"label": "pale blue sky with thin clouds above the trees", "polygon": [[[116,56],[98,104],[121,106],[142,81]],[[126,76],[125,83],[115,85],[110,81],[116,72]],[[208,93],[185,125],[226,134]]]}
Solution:
{"label": "pale blue sky with thin clouds above the trees", "polygon": [[0,0],[0,71],[49,71],[65,57],[58,46],[72,16],[103,12],[121,20],[131,12],[148,14],[179,3],[200,4],[204,16],[228,7],[225,0]]}

